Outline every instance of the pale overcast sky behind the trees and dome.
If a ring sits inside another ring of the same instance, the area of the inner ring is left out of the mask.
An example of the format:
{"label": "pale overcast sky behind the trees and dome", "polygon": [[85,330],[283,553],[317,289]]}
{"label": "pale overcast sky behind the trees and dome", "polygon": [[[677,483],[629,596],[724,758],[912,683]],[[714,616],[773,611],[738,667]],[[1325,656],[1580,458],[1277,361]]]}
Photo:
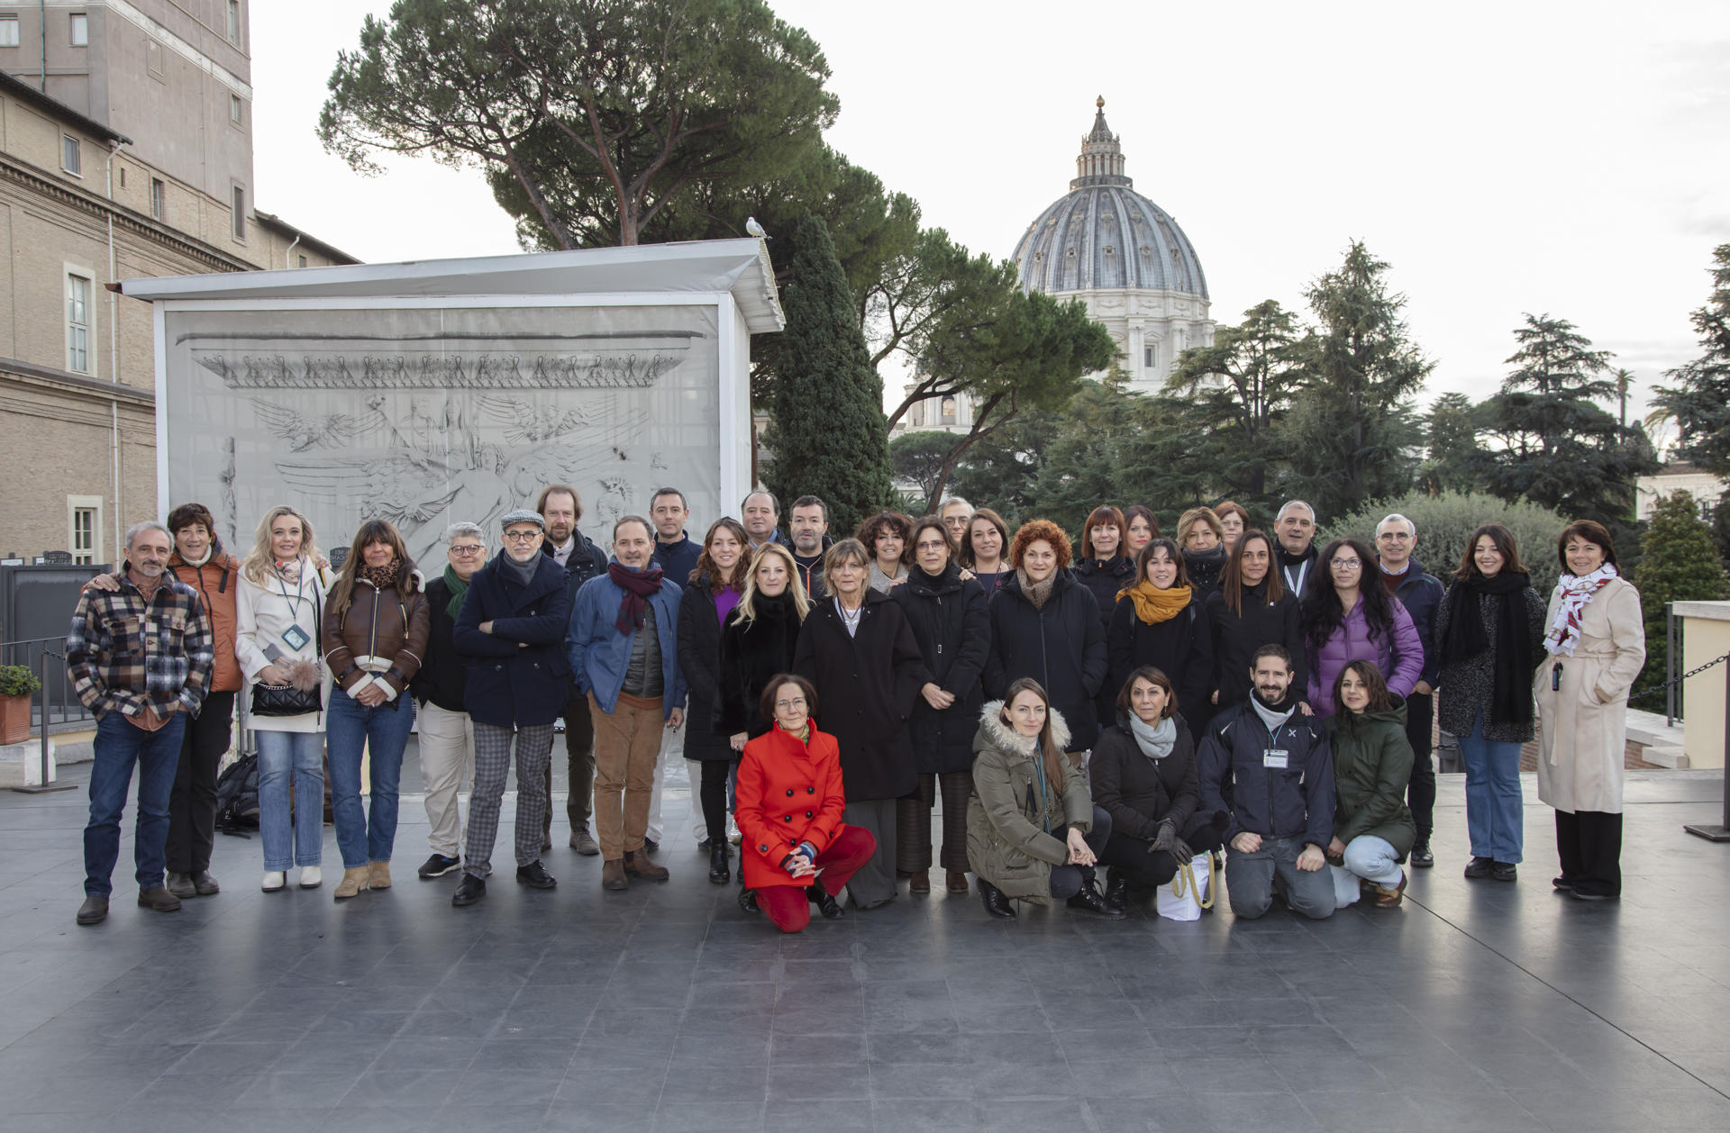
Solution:
{"label": "pale overcast sky behind the trees and dome", "polygon": [[[360,178],[313,137],[336,52],[388,2],[249,7],[260,208],[368,261],[517,251],[477,171]],[[1362,239],[1436,362],[1427,396],[1491,393],[1524,311],[1576,323],[1642,394],[1697,353],[1688,311],[1730,242],[1730,3],[773,7],[834,71],[829,140],[974,251],[1010,256],[1067,192],[1104,95],[1220,323],[1301,308]]]}

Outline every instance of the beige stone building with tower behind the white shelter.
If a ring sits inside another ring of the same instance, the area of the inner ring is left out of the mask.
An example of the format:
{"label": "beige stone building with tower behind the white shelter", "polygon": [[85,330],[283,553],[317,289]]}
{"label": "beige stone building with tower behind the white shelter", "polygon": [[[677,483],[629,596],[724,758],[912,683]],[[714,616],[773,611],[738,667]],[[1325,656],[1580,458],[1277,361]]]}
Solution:
{"label": "beige stone building with tower behind the white shelter", "polygon": [[112,284],[355,263],[253,202],[246,0],[0,0],[0,554],[156,514],[151,306]]}

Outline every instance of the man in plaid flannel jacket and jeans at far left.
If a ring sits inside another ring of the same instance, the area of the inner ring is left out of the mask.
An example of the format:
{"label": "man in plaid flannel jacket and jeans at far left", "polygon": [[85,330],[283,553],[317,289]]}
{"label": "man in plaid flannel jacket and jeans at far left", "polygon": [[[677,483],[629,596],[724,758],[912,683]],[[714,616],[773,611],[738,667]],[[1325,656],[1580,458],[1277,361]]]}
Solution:
{"label": "man in plaid flannel jacket and jeans at far left", "polygon": [[111,875],[119,860],[119,816],[138,765],[133,861],[138,905],[180,908],[163,886],[168,799],[180,766],[180,740],[209,690],[211,619],[192,586],[168,571],[175,540],[159,522],[126,533],[118,590],[85,590],[66,637],[66,675],[97,718],[85,825],[85,903],[78,924],[107,917]]}

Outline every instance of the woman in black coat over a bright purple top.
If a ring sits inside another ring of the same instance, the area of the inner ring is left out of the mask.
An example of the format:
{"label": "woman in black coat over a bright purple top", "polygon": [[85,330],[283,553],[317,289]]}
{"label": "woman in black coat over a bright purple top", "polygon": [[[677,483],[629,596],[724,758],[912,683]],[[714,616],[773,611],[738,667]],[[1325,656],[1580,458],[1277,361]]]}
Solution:
{"label": "woman in black coat over a bright purple top", "polygon": [[716,519],[702,536],[702,554],[678,605],[678,668],[689,685],[685,706],[685,758],[702,763],[697,799],[709,829],[709,880],[725,884],[727,773],[734,749],[714,728],[721,694],[721,623],[739,605],[751,562],[751,540],[737,519]]}

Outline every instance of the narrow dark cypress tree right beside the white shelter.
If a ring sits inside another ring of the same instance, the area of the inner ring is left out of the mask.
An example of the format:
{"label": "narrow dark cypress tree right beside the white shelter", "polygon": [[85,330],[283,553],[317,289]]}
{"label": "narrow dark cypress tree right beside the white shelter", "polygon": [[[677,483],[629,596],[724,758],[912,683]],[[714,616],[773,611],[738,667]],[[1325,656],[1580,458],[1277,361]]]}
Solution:
{"label": "narrow dark cypress tree right beside the white shelter", "polygon": [[889,502],[882,379],[870,365],[829,227],[808,216],[787,240],[792,280],[782,291],[787,329],[763,436],[772,455],[763,481],[784,507],[822,496],[830,529],[849,533]]}

